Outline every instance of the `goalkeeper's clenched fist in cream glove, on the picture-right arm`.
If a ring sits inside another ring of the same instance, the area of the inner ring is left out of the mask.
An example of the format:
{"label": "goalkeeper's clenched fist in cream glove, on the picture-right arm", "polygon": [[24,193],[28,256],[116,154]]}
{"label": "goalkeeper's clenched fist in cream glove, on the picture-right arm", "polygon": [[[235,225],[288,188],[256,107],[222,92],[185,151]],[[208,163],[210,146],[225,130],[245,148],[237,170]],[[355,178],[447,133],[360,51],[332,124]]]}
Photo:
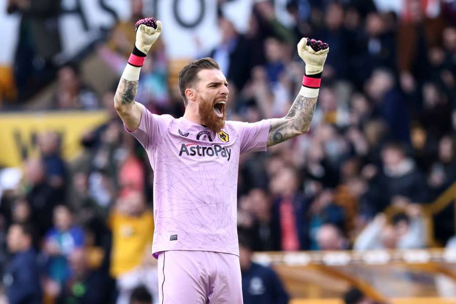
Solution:
{"label": "goalkeeper's clenched fist in cream glove, on the picture-right arm", "polygon": [[306,75],[318,74],[323,71],[329,46],[327,43],[302,38],[297,45],[299,57],[306,63]]}

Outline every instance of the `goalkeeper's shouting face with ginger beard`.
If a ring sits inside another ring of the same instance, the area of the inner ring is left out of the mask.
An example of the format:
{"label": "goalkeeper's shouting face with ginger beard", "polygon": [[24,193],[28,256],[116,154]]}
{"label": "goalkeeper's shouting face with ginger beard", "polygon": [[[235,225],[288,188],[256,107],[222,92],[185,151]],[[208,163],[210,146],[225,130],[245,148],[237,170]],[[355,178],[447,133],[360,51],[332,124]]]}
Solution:
{"label": "goalkeeper's shouting face with ginger beard", "polygon": [[198,111],[202,123],[214,132],[225,125],[228,83],[218,69],[202,69],[198,72],[197,98]]}

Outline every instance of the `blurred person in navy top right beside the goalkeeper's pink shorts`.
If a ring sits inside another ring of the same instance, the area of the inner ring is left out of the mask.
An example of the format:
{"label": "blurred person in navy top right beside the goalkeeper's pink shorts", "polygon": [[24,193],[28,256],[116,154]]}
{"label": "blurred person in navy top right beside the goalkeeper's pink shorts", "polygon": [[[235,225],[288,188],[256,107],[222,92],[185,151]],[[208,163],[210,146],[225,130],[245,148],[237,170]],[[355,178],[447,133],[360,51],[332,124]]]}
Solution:
{"label": "blurred person in navy top right beside the goalkeeper's pink shorts", "polygon": [[246,235],[239,234],[242,296],[244,304],[287,304],[289,296],[277,274],[269,267],[252,261],[252,246]]}

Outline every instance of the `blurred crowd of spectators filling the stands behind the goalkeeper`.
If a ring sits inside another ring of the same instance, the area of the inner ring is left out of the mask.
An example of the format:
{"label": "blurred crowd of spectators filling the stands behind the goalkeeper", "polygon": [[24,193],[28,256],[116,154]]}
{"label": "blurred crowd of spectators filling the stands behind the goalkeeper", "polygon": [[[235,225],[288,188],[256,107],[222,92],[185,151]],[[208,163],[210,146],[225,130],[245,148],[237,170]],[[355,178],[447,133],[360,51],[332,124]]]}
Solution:
{"label": "blurred crowd of spectators filling the stands behind the goalkeeper", "polygon": [[[297,42],[315,37],[330,46],[310,132],[241,156],[245,248],[411,249],[444,246],[454,235],[451,206],[434,215],[434,244],[424,214],[456,180],[456,4],[404,0],[393,12],[384,2],[289,1],[285,24],[271,2],[258,1],[245,33],[219,11],[221,42],[201,56],[213,57],[229,81],[230,120],[285,116],[304,72]],[[96,48],[118,77],[134,44],[132,24],[142,17],[142,1],[131,3],[131,20]],[[78,64],[55,75],[52,108],[105,108],[109,120],[83,136],[83,154],[72,162],[61,156],[57,134],[39,135],[40,158],[26,160],[20,181],[1,197],[1,271],[35,280],[24,297],[43,293],[49,303],[128,303],[137,288],[158,300],[149,254],[153,172],[113,109],[117,81],[100,95]],[[141,69],[136,100],[180,117],[183,102],[170,78],[159,40]],[[394,216],[385,213],[391,208]],[[245,264],[243,280],[253,271]],[[279,287],[273,302],[287,302]],[[258,296],[252,292],[246,303]]]}

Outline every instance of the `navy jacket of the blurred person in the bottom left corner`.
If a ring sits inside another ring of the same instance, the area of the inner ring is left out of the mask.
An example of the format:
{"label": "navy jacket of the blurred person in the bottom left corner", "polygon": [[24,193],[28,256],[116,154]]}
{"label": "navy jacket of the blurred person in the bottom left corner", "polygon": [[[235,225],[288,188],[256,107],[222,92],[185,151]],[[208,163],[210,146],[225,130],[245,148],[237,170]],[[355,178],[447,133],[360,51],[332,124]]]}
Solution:
{"label": "navy jacket of the blurred person in the bottom left corner", "polygon": [[3,279],[10,304],[43,302],[36,254],[33,249],[16,253]]}

